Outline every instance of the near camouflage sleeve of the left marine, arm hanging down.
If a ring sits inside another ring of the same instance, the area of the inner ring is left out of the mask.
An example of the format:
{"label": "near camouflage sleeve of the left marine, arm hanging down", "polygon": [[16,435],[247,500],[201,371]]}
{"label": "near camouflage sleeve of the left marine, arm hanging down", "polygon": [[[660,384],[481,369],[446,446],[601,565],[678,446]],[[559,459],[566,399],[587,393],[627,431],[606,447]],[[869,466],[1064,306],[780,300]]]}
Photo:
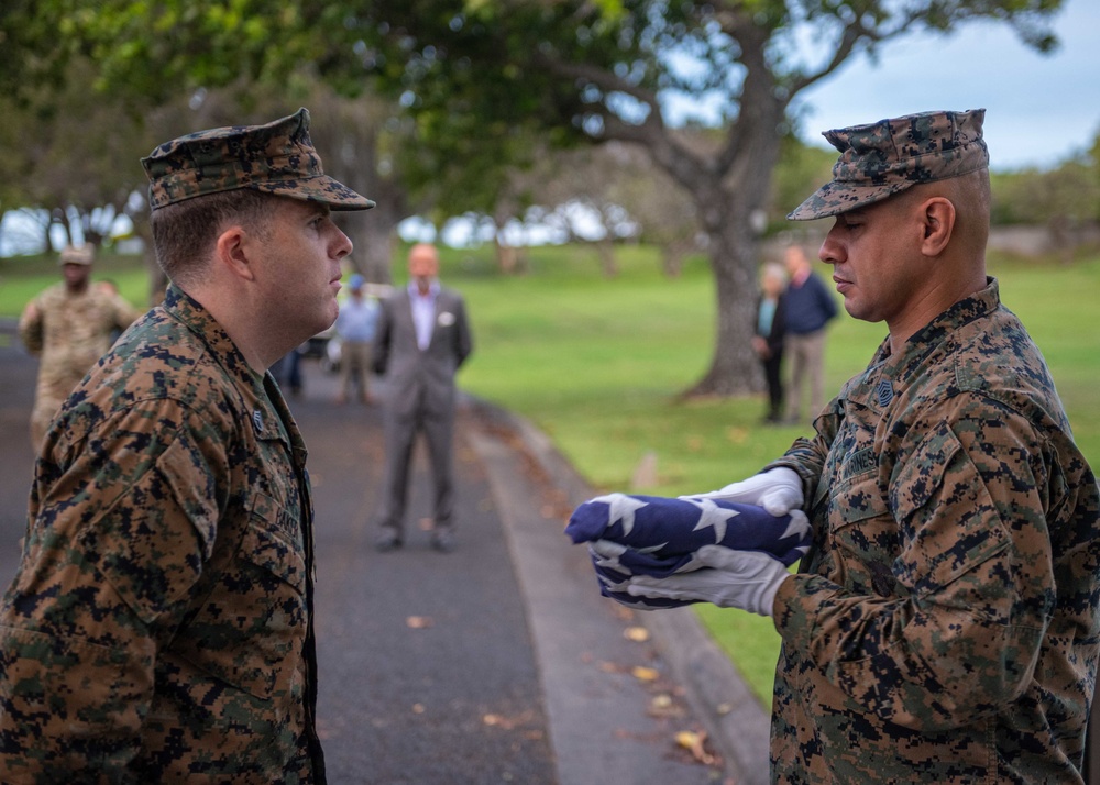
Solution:
{"label": "near camouflage sleeve of the left marine, arm hanging down", "polygon": [[130,782],[157,651],[184,620],[224,504],[213,478],[226,455],[194,419],[144,401],[55,445],[68,467],[32,494],[0,605],[0,781]]}

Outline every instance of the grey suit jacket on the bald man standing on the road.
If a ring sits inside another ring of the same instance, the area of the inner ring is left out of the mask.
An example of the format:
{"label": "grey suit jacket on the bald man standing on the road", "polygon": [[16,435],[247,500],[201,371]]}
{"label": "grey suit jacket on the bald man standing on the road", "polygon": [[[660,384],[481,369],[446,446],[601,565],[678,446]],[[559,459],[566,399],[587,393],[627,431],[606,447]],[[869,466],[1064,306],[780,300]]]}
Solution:
{"label": "grey suit jacket on the bald man standing on the road", "polygon": [[431,342],[420,350],[416,342],[413,305],[402,287],[382,301],[375,335],[374,369],[389,382],[387,408],[398,417],[418,410],[435,417],[454,411],[454,374],[470,356],[473,338],[462,296],[440,288]]}

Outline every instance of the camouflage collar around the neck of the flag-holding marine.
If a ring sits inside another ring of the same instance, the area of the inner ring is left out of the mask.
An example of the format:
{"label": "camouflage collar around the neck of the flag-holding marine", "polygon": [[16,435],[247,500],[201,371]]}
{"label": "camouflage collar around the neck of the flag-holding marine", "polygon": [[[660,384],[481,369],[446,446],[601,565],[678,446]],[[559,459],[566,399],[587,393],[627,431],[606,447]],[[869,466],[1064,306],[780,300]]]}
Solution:
{"label": "camouflage collar around the neck of the flag-holding marine", "polygon": [[996,311],[1001,305],[997,279],[986,278],[986,288],[964,298],[917,330],[891,354],[890,339],[879,346],[867,371],[848,383],[842,394],[849,401],[884,410],[928,358],[960,328]]}

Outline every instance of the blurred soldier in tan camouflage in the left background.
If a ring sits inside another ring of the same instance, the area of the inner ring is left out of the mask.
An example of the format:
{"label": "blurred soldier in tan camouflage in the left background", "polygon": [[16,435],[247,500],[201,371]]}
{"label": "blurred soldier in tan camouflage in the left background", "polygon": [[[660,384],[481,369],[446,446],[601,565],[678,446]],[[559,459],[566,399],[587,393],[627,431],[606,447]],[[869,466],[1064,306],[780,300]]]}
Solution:
{"label": "blurred soldier in tan camouflage in the left background", "polygon": [[31,446],[35,451],[69,393],[107,354],[112,336],[139,316],[117,292],[90,285],[92,258],[89,245],[62,251],[65,280],[26,303],[19,320],[23,345],[42,355],[31,412]]}

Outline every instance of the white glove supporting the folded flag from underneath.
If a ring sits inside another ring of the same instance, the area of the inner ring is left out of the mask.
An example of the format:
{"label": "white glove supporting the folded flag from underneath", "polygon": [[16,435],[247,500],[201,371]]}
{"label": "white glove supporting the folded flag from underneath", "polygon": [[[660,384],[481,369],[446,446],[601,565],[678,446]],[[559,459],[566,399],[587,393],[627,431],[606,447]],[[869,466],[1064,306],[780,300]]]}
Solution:
{"label": "white glove supporting the folded flag from underneath", "polygon": [[637,575],[623,588],[635,597],[712,602],[771,616],[779,585],[791,575],[782,562],[759,551],[703,545],[695,555],[706,568],[667,578]]}

